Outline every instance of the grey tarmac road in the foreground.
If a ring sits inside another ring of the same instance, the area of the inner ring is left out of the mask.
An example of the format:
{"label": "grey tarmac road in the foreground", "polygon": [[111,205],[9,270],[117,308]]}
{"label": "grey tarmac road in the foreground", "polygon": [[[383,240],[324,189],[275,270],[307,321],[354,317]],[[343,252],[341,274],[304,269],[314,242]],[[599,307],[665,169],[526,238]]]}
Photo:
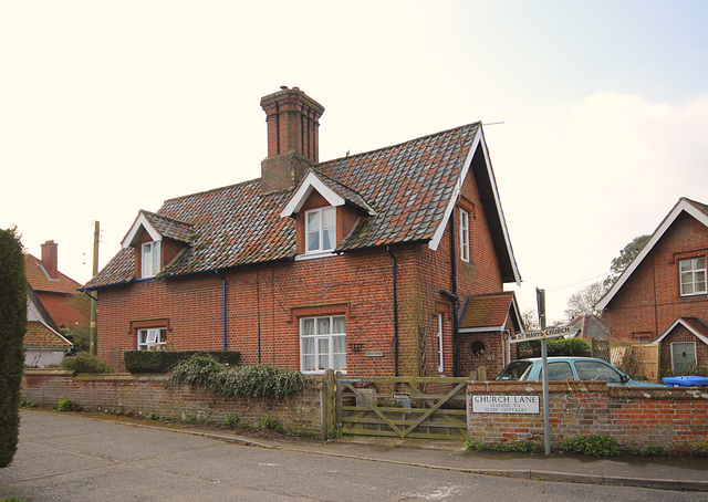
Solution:
{"label": "grey tarmac road in the foreground", "polygon": [[[480,475],[452,464],[479,459],[433,450],[314,441],[291,448],[278,440],[261,448],[74,414],[22,410],[21,417],[18,453],[0,470],[0,500],[708,500],[696,491]],[[420,467],[445,459],[447,467]]]}

